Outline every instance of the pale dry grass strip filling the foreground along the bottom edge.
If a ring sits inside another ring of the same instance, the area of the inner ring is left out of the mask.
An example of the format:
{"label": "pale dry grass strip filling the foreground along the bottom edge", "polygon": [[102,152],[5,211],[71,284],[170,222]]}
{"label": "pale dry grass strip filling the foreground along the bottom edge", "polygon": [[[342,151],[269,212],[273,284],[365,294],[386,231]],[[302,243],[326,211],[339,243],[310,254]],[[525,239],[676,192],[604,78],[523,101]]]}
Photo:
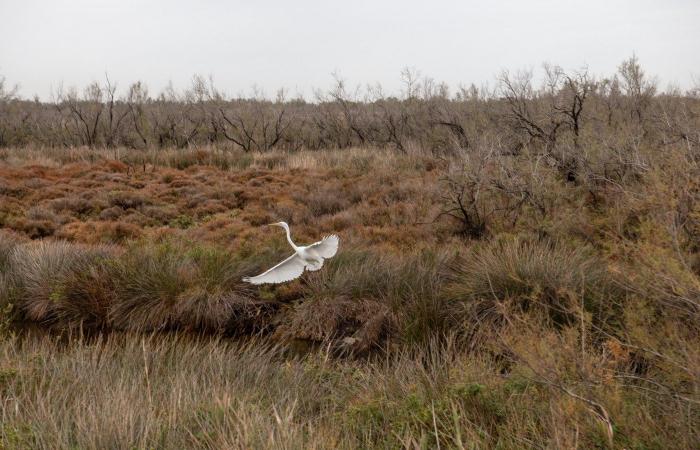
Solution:
{"label": "pale dry grass strip filling the foreground along the bottom edge", "polygon": [[[560,339],[550,344],[570,353]],[[657,416],[674,407],[620,382],[584,388],[570,374],[566,389],[574,394],[542,382],[529,363],[504,372],[457,347],[446,339],[353,361],[323,351],[290,358],[261,342],[174,335],[11,338],[0,344],[0,442],[4,448],[697,444],[692,416]],[[616,417],[612,440],[588,397]]]}

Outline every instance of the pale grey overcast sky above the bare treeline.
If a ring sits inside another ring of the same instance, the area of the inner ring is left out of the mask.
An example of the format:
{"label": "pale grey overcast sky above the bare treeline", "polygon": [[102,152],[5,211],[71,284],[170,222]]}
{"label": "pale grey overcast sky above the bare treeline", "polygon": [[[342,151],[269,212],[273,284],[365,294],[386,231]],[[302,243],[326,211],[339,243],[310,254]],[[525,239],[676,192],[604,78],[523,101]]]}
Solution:
{"label": "pale grey overcast sky above the bare treeline", "polygon": [[[493,84],[542,62],[610,74],[636,53],[662,87],[700,79],[700,0],[0,0],[0,74],[21,94],[212,75],[228,94],[380,82],[402,67]],[[694,78],[693,78],[694,77]]]}

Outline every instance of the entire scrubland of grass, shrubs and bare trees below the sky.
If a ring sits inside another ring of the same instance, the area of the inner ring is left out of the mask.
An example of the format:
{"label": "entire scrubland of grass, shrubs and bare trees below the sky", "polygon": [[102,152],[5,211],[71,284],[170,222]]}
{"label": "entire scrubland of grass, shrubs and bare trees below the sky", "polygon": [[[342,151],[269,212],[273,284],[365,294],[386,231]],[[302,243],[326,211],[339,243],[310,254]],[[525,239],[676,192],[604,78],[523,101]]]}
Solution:
{"label": "entire scrubland of grass, shrubs and bare trees below the sky", "polygon": [[[0,446],[698,448],[700,100],[636,64],[240,121],[169,103],[229,119],[183,146],[144,132],[155,100],[58,144],[6,100]],[[243,283],[288,255],[279,220],[338,255]]]}

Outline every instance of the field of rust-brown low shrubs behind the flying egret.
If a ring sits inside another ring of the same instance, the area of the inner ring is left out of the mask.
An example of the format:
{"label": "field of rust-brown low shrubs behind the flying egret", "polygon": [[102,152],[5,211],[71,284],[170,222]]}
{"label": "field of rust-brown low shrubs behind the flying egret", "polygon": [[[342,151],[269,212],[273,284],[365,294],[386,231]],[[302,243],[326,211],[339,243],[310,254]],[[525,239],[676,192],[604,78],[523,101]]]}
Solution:
{"label": "field of rust-brown low shrubs behind the flying egret", "polygon": [[[352,161],[352,155],[325,154],[281,157],[273,168],[259,168],[253,158],[243,170],[149,166],[128,174],[109,159],[66,164],[59,159],[56,167],[15,162],[0,172],[5,181],[0,223],[33,238],[91,244],[120,243],[148,230],[187,229],[199,241],[237,248],[267,234],[258,227],[276,220],[290,222],[300,241],[332,228],[349,231],[348,237],[381,235],[395,246],[416,238],[434,243],[440,236],[416,222],[435,213],[435,193],[418,188],[435,173],[406,167],[377,178],[380,167],[396,167],[396,156],[387,161],[382,154],[362,154],[374,170],[352,165],[341,170],[336,165]],[[377,215],[380,205],[384,212]]]}

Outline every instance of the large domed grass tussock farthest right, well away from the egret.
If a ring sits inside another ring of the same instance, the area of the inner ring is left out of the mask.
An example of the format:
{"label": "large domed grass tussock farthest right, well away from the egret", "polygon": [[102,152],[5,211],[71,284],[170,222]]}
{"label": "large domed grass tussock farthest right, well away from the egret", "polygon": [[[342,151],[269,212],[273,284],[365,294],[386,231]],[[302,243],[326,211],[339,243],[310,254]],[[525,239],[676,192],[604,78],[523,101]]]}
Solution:
{"label": "large domed grass tussock farthest right, well away from the egret", "polygon": [[460,259],[449,296],[468,324],[492,325],[501,321],[503,308],[518,308],[562,325],[574,320],[572,309],[603,314],[612,289],[603,264],[583,246],[506,238]]}

